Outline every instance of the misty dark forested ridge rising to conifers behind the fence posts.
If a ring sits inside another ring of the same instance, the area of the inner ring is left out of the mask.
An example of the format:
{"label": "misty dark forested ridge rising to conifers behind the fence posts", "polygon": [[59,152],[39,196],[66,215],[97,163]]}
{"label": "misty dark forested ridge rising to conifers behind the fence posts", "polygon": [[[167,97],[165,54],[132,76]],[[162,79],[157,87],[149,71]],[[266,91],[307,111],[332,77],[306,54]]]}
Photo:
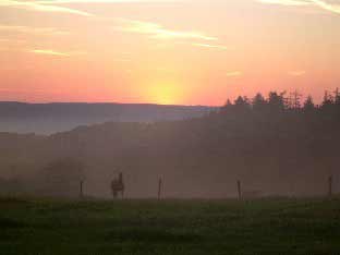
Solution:
{"label": "misty dark forested ridge rising to conifers behind the fence posts", "polygon": [[76,196],[84,179],[88,195],[108,196],[121,171],[131,197],[155,196],[160,177],[169,197],[235,196],[236,180],[245,194],[324,195],[330,175],[340,191],[339,130],[337,90],[318,106],[312,97],[272,92],[182,121],[111,122],[49,136],[1,133],[0,191]]}

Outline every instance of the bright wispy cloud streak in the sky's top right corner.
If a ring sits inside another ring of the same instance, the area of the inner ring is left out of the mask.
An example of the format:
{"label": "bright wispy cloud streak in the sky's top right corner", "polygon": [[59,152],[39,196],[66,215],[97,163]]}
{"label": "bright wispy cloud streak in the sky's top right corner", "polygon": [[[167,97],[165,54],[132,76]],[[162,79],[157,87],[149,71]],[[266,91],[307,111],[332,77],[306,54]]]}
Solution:
{"label": "bright wispy cloud streak in the sky's top right corner", "polygon": [[317,7],[324,9],[329,12],[333,12],[340,14],[340,4],[331,3],[329,1],[324,0],[255,0],[260,3],[269,3],[269,4],[280,4],[280,5],[291,5],[291,7]]}

